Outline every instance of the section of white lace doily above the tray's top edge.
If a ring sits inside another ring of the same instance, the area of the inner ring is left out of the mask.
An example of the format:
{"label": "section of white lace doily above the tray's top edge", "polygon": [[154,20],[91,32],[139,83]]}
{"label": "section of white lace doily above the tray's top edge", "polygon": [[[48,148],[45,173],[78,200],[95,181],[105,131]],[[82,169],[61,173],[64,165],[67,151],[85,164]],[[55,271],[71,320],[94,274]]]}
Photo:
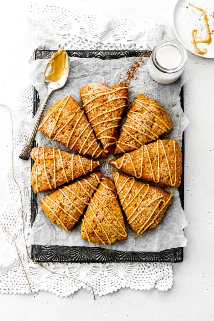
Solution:
{"label": "section of white lace doily above the tray's top edge", "polygon": [[109,20],[89,14],[84,12],[84,4],[81,13],[72,8],[33,5],[30,17],[39,46],[46,49],[149,50],[164,32],[162,24],[149,19],[120,16]]}

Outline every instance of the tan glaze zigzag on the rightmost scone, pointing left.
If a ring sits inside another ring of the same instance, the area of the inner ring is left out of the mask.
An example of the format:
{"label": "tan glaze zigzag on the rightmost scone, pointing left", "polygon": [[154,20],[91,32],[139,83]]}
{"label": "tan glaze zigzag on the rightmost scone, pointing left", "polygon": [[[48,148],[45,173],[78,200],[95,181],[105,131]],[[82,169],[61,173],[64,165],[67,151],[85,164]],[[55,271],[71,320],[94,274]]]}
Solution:
{"label": "tan glaze zigzag on the rightmost scone, pointing left", "polygon": [[148,159],[149,159],[149,163],[150,163],[150,169],[151,169],[151,174],[152,174],[153,181],[154,181],[154,183],[159,183],[159,181],[160,181],[160,162],[159,162],[159,143],[158,142],[160,142],[161,147],[162,147],[163,152],[164,152],[164,156],[165,156],[166,163],[167,163],[167,169],[168,169],[168,172],[169,172],[170,184],[171,184],[171,186],[175,186],[175,184],[176,184],[176,151],[175,151],[175,141],[174,140],[173,140],[174,158],[175,158],[175,181],[174,181],[174,183],[172,182],[172,173],[171,173],[171,168],[170,168],[170,165],[169,165],[169,160],[167,158],[167,153],[166,153],[166,150],[164,148],[163,142],[160,139],[158,139],[157,142],[156,142],[157,143],[157,158],[158,158],[158,178],[157,179],[155,178],[154,169],[152,167],[150,153],[149,153],[147,145],[142,145],[140,147],[141,148],[140,175],[137,175],[137,169],[134,166],[134,163],[133,163],[133,160],[132,160],[132,157],[131,157],[130,153],[126,153],[126,154],[123,155],[123,157],[121,159],[121,162],[120,162],[120,165],[118,165],[116,161],[111,161],[110,164],[114,164],[117,169],[121,169],[123,167],[123,164],[124,164],[124,161],[125,161],[126,157],[128,157],[130,162],[131,162],[133,171],[134,171],[134,176],[136,178],[141,178],[142,177],[142,171],[143,171],[143,148],[145,148],[145,150],[147,152]]}

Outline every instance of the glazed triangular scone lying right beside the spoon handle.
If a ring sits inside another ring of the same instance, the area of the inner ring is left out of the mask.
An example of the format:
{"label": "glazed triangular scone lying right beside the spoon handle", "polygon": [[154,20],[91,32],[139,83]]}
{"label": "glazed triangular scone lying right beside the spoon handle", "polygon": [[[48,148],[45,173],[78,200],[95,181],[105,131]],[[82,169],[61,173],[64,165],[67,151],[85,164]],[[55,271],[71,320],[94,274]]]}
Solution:
{"label": "glazed triangular scone lying right beside the spoon handle", "polygon": [[83,155],[105,157],[83,108],[70,95],[48,109],[39,131]]}

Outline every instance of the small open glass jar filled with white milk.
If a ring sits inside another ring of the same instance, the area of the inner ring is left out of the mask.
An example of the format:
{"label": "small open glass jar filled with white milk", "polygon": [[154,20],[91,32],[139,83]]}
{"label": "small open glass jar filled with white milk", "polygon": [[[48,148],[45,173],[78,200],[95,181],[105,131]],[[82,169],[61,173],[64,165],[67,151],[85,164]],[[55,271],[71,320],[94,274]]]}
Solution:
{"label": "small open glass jar filled with white milk", "polygon": [[186,49],[175,39],[164,39],[153,49],[148,61],[150,76],[160,83],[177,80],[187,60]]}

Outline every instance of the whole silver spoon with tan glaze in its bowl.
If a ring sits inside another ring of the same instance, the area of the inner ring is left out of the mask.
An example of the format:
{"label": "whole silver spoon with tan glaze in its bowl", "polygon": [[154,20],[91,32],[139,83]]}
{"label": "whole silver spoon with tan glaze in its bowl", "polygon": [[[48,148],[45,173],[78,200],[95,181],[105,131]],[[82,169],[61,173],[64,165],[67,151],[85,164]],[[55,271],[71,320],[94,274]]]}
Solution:
{"label": "whole silver spoon with tan glaze in its bowl", "polygon": [[30,151],[33,145],[34,137],[39,127],[39,122],[42,117],[43,111],[47,104],[47,100],[52,91],[60,89],[64,86],[68,79],[70,68],[70,60],[67,52],[64,49],[59,49],[49,60],[44,74],[44,82],[47,85],[47,96],[40,108],[35,123],[31,128],[30,134],[21,150],[19,157],[23,160],[28,160]]}

